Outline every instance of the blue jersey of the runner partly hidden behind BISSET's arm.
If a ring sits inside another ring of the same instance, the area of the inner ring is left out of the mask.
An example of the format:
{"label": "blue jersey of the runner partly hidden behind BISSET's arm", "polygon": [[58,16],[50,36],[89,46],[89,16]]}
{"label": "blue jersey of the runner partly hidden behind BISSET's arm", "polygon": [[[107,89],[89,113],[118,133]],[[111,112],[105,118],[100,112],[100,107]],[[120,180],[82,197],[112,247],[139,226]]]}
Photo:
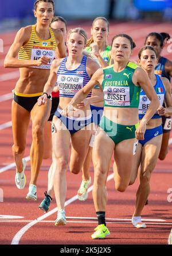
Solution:
{"label": "blue jersey of the runner partly hidden behind BISSET's arm", "polygon": [[[161,81],[161,78],[159,78],[159,75],[156,75],[157,83],[154,86],[154,90],[157,93],[158,99],[159,99],[159,105],[163,105],[163,101],[165,98],[165,87],[163,86],[163,83]],[[142,119],[144,114],[146,114],[148,106],[150,105],[150,100],[144,93],[143,89],[140,90],[140,102],[139,102],[139,119]],[[152,119],[158,119],[161,118],[159,114],[156,112]]]}

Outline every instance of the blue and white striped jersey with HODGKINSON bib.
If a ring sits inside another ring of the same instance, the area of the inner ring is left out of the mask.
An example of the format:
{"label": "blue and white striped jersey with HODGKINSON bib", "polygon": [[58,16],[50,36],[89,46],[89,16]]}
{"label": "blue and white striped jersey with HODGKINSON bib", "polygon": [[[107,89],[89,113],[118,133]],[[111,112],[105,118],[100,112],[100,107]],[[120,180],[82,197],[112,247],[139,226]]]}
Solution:
{"label": "blue and white striped jersey with HODGKINSON bib", "polygon": [[[60,97],[72,98],[80,91],[90,80],[86,71],[87,57],[84,55],[79,67],[75,70],[67,70],[65,63],[67,57],[64,58],[57,71],[57,85],[59,87]],[[91,97],[91,92],[87,97]]]}

